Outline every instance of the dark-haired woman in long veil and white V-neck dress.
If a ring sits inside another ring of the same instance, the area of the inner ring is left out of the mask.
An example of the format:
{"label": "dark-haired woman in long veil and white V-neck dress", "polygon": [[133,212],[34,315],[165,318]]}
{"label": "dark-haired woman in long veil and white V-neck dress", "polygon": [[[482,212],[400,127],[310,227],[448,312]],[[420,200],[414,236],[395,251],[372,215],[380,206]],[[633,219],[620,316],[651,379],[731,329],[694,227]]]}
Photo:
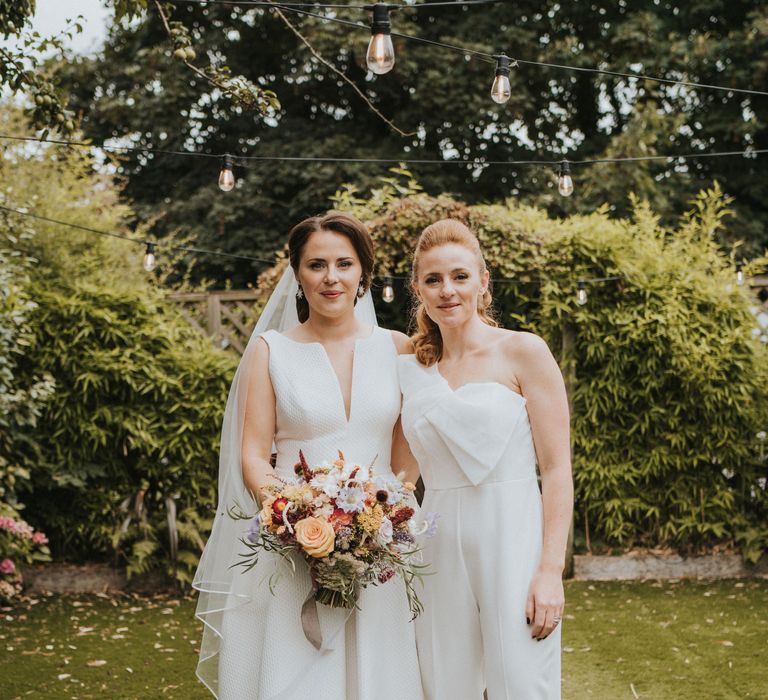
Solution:
{"label": "dark-haired woman in long veil and white V-neck dress", "polygon": [[277,556],[262,554],[247,573],[230,568],[247,522],[230,518],[228,507],[252,504],[249,494],[292,476],[299,449],[310,463],[342,450],[391,474],[397,360],[410,346],[376,326],[371,237],[352,216],[330,213],[294,227],[288,246],[290,267],[246,348],[224,416],[219,503],[193,584],[205,623],[197,674],[222,700],[419,700],[401,580],[364,589],[351,613],[318,605],[316,649],[302,623],[311,581],[301,562],[274,585]]}

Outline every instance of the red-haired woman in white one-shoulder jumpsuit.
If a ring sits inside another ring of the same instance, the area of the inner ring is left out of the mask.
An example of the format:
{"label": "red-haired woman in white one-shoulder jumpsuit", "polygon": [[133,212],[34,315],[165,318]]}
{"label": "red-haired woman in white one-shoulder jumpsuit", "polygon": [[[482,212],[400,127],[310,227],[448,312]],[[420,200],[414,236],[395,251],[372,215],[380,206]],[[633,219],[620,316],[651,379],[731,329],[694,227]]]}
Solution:
{"label": "red-haired woman in white one-shoulder jumpsuit", "polygon": [[426,697],[559,698],[573,507],[562,376],[541,338],[497,327],[479,243],[461,222],[424,230],[412,286],[418,331],[415,355],[399,359],[402,430],[423,507],[440,514],[416,623]]}

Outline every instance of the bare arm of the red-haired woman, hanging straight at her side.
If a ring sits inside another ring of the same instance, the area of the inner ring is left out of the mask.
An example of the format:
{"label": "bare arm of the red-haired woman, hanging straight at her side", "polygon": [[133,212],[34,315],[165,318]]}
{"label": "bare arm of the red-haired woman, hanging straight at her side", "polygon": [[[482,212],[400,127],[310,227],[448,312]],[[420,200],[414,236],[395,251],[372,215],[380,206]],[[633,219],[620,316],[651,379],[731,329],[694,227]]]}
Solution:
{"label": "bare arm of the red-haired woman, hanging straight at her side", "polygon": [[555,618],[562,617],[565,604],[562,575],[573,519],[568,397],[560,368],[541,338],[519,333],[510,345],[541,474],[544,542],[531,581],[526,618],[532,636],[543,639],[554,630]]}

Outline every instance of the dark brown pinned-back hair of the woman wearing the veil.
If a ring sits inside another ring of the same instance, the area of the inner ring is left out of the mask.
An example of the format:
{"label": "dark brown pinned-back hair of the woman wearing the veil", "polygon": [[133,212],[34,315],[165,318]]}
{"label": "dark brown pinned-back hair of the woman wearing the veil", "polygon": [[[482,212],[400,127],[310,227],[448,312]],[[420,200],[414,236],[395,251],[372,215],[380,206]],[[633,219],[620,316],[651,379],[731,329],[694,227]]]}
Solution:
{"label": "dark brown pinned-back hair of the woman wearing the veil", "polygon": [[[288,258],[293,271],[298,275],[301,253],[304,250],[304,246],[307,244],[309,237],[319,231],[340,233],[350,240],[363,268],[360,284],[365,291],[368,291],[373,281],[373,265],[375,261],[373,240],[365,224],[351,214],[330,212],[322,216],[312,216],[296,224],[288,234]],[[309,318],[309,303],[306,297],[296,298],[296,313],[299,316],[299,323],[304,323]]]}

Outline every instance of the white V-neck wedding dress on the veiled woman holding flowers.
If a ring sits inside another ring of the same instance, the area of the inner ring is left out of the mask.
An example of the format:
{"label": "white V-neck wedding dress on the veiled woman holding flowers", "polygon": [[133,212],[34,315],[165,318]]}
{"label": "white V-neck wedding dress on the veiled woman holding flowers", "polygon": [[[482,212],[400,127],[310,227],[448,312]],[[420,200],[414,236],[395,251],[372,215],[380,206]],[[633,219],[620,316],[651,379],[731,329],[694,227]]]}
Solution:
{"label": "white V-neck wedding dress on the veiled woman holding flowers", "polygon": [[[300,449],[310,464],[332,461],[342,450],[349,461],[389,472],[401,402],[391,333],[375,327],[356,343],[349,419],[338,379],[320,343],[298,342],[273,330],[261,337],[269,345],[269,373],[277,400],[277,473],[294,475]],[[306,566],[299,561],[293,574],[283,565],[285,571],[272,593],[268,579],[276,566],[280,566],[276,556],[262,554],[255,569],[235,574],[230,599],[248,602],[223,613],[220,700],[423,698],[415,630],[402,580],[363,590],[359,610],[319,605],[330,649],[316,651],[300,620],[311,590]]]}

